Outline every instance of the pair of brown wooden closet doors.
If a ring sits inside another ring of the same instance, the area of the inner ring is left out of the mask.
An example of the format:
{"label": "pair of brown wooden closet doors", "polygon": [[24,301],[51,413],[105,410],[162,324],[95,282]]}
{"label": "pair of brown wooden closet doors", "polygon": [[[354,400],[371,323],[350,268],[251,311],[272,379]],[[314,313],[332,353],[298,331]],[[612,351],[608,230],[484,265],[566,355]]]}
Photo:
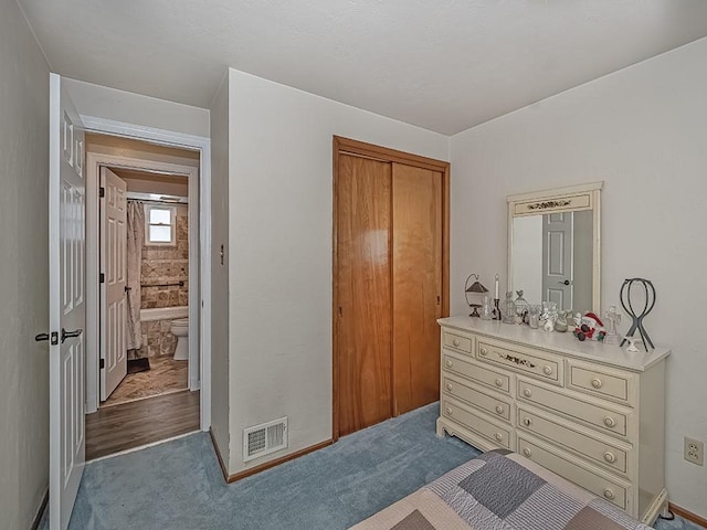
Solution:
{"label": "pair of brown wooden closet doors", "polygon": [[337,438],[439,399],[449,170],[335,153]]}

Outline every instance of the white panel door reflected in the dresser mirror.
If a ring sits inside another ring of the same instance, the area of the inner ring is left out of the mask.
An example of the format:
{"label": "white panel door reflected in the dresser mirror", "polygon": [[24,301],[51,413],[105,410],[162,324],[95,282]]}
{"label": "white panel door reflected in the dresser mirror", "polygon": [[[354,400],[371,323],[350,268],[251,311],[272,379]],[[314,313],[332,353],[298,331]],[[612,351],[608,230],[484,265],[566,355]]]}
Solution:
{"label": "white panel door reflected in the dresser mirror", "polygon": [[572,308],[572,212],[542,215],[542,295],[558,309]]}

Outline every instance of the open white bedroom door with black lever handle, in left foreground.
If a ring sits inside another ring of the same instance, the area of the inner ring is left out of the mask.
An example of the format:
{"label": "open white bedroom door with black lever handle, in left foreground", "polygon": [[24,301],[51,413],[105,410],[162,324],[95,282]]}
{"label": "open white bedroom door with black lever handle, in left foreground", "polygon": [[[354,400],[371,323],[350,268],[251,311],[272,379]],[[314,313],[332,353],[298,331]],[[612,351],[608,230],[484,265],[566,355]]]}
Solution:
{"label": "open white bedroom door with black lever handle, in left foreground", "polygon": [[61,77],[50,75],[50,529],[68,526],[85,463],[84,134]]}

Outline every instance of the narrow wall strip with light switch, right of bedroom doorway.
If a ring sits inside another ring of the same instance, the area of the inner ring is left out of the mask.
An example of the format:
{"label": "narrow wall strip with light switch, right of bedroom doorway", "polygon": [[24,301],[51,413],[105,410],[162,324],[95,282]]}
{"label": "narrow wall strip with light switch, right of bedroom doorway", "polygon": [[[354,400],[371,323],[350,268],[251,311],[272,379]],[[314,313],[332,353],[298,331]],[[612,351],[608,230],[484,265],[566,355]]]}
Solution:
{"label": "narrow wall strip with light switch, right of bedroom doorway", "polygon": [[211,432],[229,463],[229,80],[211,107]]}

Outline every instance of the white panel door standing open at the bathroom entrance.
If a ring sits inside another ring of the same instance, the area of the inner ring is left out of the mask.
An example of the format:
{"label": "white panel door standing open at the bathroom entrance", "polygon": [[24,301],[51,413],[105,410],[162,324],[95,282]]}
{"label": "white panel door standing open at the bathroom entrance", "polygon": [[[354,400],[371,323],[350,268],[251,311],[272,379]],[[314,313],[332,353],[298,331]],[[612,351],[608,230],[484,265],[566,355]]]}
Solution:
{"label": "white panel door standing open at the bathroom entrance", "polygon": [[106,401],[128,370],[127,318],[127,184],[108,168],[101,168],[101,401]]}

